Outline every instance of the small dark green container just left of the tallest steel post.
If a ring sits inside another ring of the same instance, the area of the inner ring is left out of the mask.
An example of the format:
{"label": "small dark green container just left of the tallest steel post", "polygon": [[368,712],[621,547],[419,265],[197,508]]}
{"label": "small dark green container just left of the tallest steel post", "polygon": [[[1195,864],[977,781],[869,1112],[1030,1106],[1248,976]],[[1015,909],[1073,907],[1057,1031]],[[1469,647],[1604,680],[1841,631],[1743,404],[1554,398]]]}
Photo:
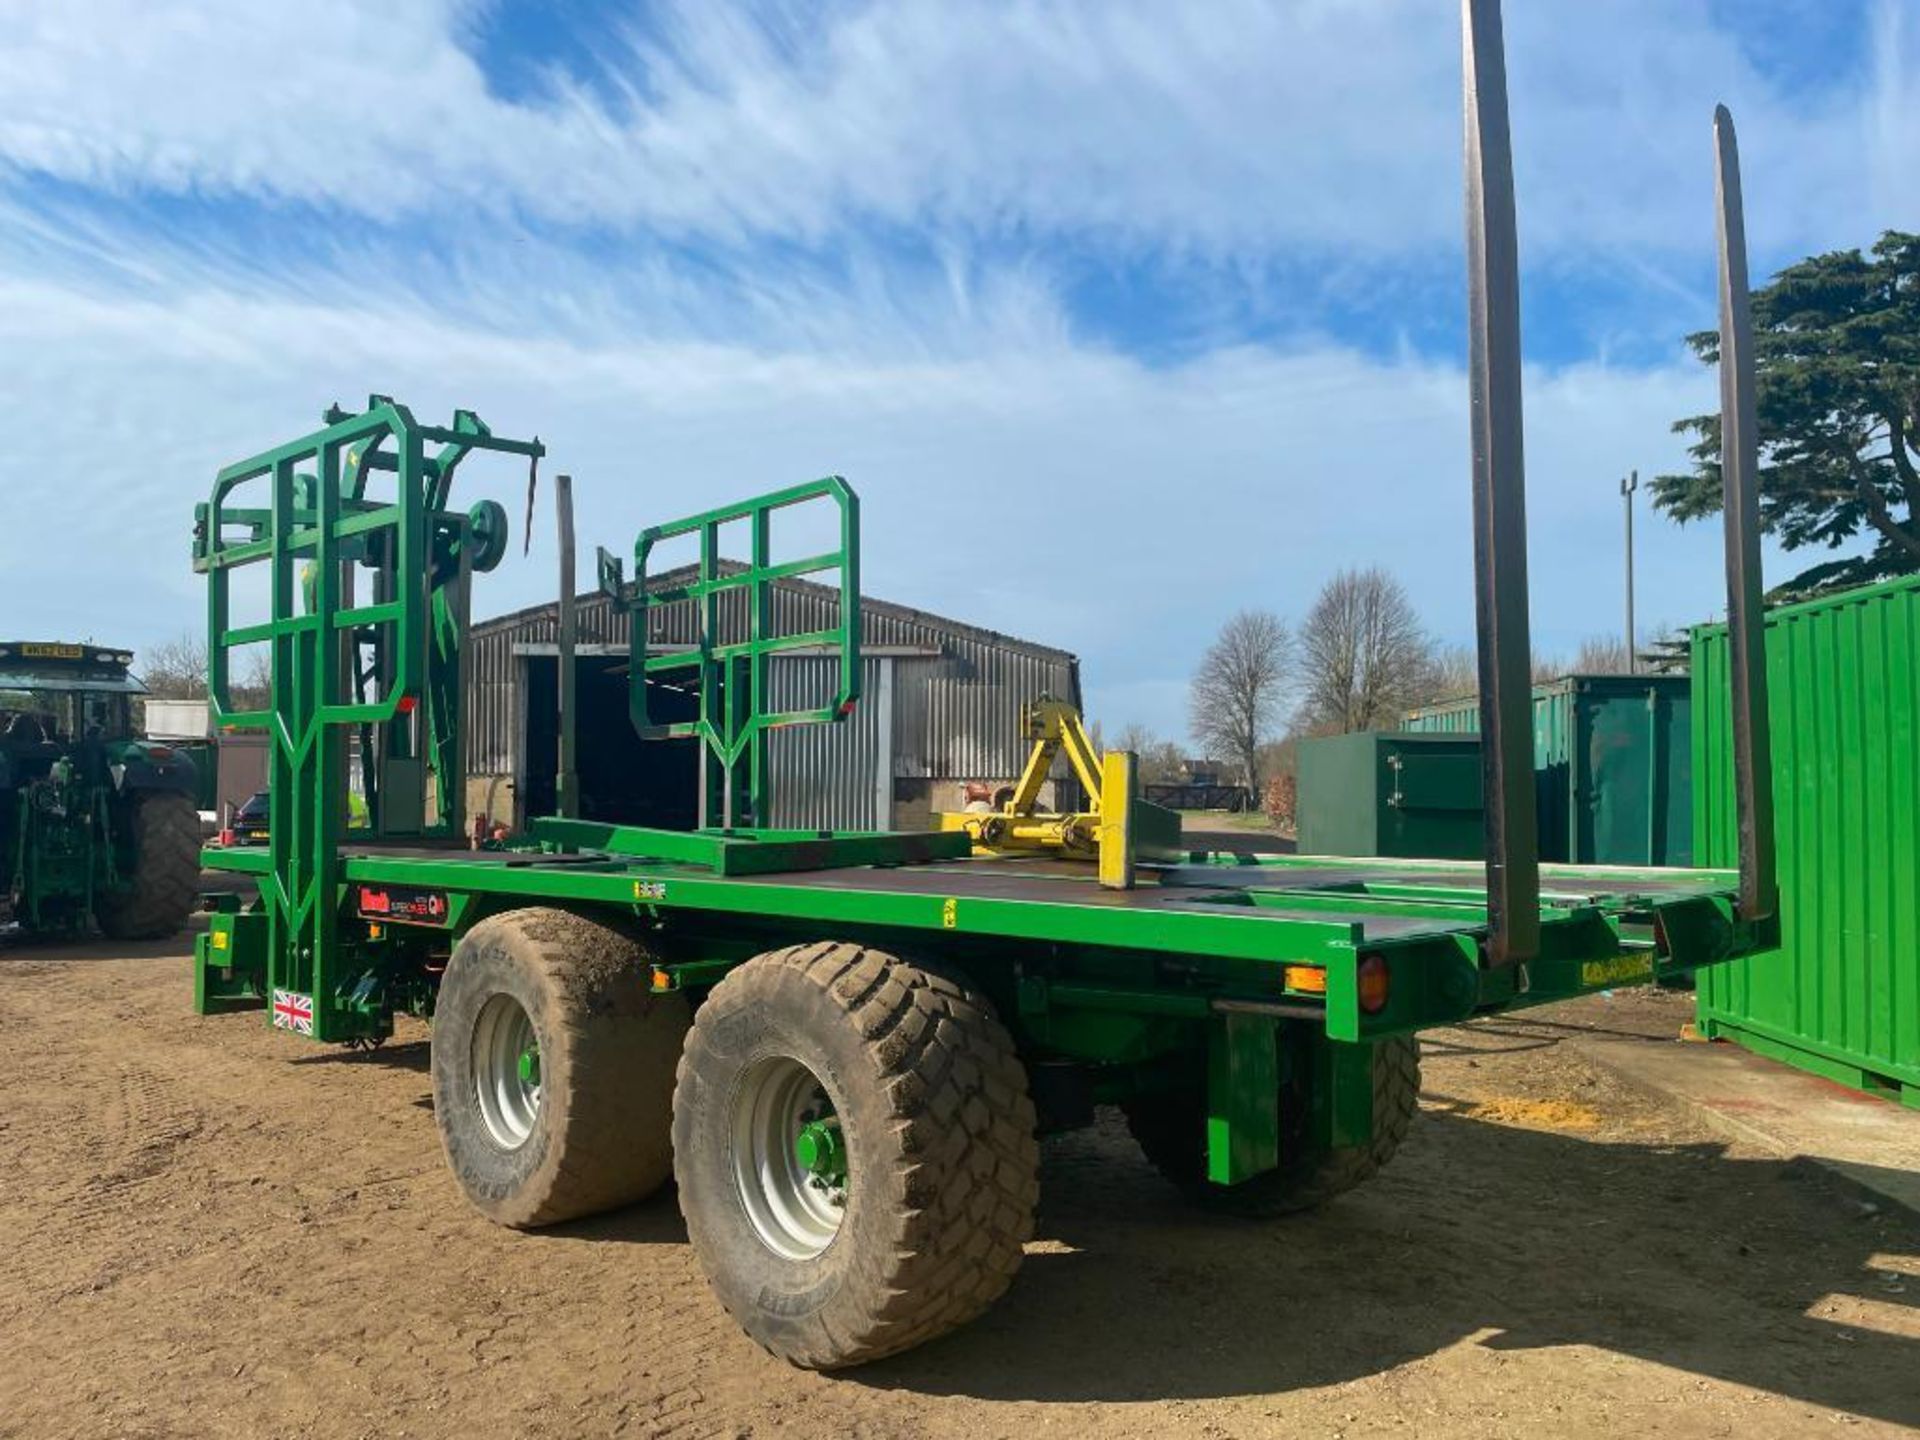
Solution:
{"label": "small dark green container just left of the tallest steel post", "polygon": [[1323,735],[1300,741],[1296,764],[1302,854],[1486,852],[1476,735]]}

